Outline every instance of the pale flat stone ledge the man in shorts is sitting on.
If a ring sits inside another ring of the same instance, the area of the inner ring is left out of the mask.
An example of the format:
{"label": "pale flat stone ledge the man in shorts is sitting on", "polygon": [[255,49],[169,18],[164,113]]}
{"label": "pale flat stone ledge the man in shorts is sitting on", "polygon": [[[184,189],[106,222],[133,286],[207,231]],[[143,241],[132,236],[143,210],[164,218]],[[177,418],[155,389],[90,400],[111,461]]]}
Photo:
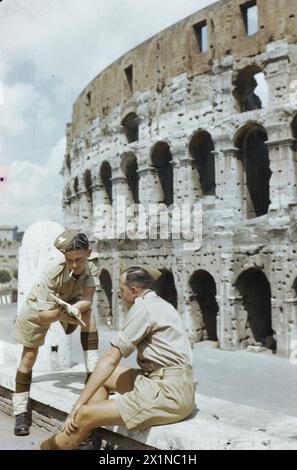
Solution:
{"label": "pale flat stone ledge the man in shorts is sitting on", "polygon": [[[0,385],[8,394],[8,390],[14,388],[16,346],[2,343],[1,347],[5,352],[5,362],[0,372]],[[50,415],[54,413],[51,410],[55,410],[64,419],[83,388],[83,370],[83,365],[80,364],[65,371],[34,374],[31,390],[34,403],[47,407]],[[6,400],[9,401],[7,397]],[[9,408],[8,401],[6,410]],[[112,443],[120,442],[116,445],[118,449],[127,445],[126,448],[166,450],[297,450],[295,417],[200,394],[196,395],[196,403],[199,409],[192,417],[180,423],[156,426],[136,433],[113,426],[100,428],[97,433]],[[57,415],[50,417],[57,419]],[[44,419],[39,418],[39,424],[42,421]]]}

